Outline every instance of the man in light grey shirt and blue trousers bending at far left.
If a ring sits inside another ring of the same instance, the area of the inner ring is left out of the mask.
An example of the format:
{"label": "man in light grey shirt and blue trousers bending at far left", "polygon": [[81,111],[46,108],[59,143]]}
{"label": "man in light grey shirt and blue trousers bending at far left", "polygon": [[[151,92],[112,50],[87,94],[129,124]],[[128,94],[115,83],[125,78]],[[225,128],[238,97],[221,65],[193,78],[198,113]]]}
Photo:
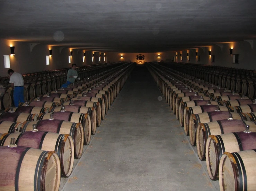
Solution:
{"label": "man in light grey shirt and blue trousers bending at far left", "polygon": [[21,74],[14,72],[12,69],[9,69],[7,73],[10,76],[11,88],[14,90],[14,106],[18,107],[19,102],[24,102],[24,81]]}

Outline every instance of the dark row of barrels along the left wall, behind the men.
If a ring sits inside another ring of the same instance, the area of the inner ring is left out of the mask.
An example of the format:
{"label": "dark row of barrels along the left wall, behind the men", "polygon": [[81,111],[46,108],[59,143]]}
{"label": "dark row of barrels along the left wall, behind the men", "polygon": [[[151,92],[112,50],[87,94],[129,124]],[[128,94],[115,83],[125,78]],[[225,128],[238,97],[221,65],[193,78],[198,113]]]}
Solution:
{"label": "dark row of barrels along the left wall, behind the men", "polygon": [[[121,64],[115,63],[112,65],[116,66],[116,68],[112,68],[112,70],[113,70],[113,69],[117,69],[118,67],[122,67],[123,63],[121,63]],[[106,65],[102,64],[101,68],[104,68],[104,67],[106,70],[110,66],[109,66],[109,64],[106,64]],[[80,67],[80,68],[84,68],[84,67]],[[109,71],[111,71],[111,69],[108,69],[106,71],[109,72]],[[81,72],[78,72],[78,73],[79,73],[79,75],[81,74]],[[67,82],[66,73],[60,73],[60,74],[63,74],[63,75],[37,77],[34,74],[27,74],[30,76],[30,78],[24,79],[24,100],[30,101],[30,100],[33,100],[34,98],[41,96],[42,94],[46,94],[47,92],[51,92],[56,89],[60,89],[62,84]],[[100,75],[100,74],[98,74],[98,75]],[[96,76],[96,74],[95,74],[95,76]],[[93,77],[95,77],[95,76],[93,76]],[[86,80],[91,81],[91,79],[92,78],[88,78]],[[6,89],[7,86],[8,86],[7,82],[0,84],[0,99],[1,99],[2,109],[6,109],[6,108],[9,108],[11,105],[14,105],[13,90],[11,88]]]}

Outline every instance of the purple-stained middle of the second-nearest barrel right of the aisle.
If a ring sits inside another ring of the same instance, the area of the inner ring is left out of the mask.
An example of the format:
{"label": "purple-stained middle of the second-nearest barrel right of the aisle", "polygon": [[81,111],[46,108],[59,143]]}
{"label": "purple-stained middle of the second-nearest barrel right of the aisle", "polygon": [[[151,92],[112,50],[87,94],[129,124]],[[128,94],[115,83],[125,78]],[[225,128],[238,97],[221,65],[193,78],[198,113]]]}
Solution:
{"label": "purple-stained middle of the second-nearest barrel right of the aisle", "polygon": [[240,139],[243,150],[256,149],[256,132],[244,133],[241,131],[236,132],[236,134]]}

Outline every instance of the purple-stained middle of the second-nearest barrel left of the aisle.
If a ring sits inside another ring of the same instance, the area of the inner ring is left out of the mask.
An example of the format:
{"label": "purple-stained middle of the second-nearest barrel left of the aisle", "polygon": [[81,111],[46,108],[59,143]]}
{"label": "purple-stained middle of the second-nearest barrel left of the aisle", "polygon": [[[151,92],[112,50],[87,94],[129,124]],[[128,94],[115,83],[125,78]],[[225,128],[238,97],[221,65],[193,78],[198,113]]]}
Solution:
{"label": "purple-stained middle of the second-nearest barrel left of the aisle", "polygon": [[[26,131],[23,132],[22,135],[19,137],[17,145],[23,147],[31,147],[34,149],[41,149],[40,143],[45,134],[45,131]],[[10,136],[10,135],[9,135]]]}

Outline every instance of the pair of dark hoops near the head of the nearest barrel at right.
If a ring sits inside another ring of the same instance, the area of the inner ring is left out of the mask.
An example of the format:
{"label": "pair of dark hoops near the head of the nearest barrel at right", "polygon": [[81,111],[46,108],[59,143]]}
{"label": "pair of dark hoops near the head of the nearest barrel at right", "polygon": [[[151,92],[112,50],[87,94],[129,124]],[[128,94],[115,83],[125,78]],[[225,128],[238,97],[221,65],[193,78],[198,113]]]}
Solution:
{"label": "pair of dark hoops near the head of the nearest barrel at right", "polygon": [[[246,175],[244,162],[242,161],[241,156],[237,152],[234,152],[232,154],[233,154],[233,157],[235,158],[235,160],[237,161],[237,170],[238,170],[238,178],[239,178],[239,182],[238,182],[239,189],[238,190],[247,191],[247,175]],[[243,189],[242,172],[244,174],[244,185],[245,185],[244,189]]]}

